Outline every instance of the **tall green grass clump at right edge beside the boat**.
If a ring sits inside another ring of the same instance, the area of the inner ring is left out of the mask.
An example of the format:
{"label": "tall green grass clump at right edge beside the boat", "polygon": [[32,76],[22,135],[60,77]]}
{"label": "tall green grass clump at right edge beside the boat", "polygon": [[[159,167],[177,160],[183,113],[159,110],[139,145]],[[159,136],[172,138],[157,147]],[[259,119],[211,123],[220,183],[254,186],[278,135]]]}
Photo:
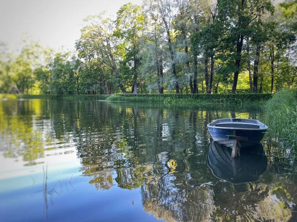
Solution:
{"label": "tall green grass clump at right edge beside the boat", "polygon": [[265,106],[264,121],[268,135],[280,138],[286,147],[297,151],[297,90],[285,89],[274,94]]}

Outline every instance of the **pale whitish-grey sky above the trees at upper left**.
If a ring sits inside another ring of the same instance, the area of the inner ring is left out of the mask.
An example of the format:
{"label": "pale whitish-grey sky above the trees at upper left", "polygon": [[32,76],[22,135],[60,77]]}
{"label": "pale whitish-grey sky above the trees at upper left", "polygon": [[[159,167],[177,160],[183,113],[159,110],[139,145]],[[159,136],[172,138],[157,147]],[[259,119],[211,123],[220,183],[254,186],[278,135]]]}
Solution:
{"label": "pale whitish-grey sky above the trees at upper left", "polygon": [[27,36],[44,47],[74,49],[85,17],[102,11],[115,17],[128,2],[142,0],[0,0],[0,42],[16,51]]}

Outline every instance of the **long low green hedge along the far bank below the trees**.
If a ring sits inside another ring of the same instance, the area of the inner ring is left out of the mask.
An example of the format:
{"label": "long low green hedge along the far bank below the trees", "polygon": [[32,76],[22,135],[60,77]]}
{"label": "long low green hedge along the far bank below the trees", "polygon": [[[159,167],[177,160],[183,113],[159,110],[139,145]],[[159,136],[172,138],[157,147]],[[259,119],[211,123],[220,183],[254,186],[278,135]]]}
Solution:
{"label": "long low green hedge along the far bank below the trees", "polygon": [[[5,96],[1,96],[5,98]],[[1,98],[0,97],[0,98]],[[11,97],[11,96],[10,96]],[[17,98],[18,96],[16,96]],[[265,102],[272,94],[111,94],[111,95],[22,95],[23,99],[107,100],[165,103],[243,103]],[[8,97],[9,98],[9,97]]]}

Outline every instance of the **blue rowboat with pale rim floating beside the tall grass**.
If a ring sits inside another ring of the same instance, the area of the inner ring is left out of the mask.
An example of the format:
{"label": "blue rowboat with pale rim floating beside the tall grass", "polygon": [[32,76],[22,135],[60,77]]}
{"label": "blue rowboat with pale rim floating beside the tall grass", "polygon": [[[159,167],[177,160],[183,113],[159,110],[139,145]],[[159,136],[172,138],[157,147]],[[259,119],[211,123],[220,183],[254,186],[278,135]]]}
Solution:
{"label": "blue rowboat with pale rim floating beside the tall grass", "polygon": [[226,118],[207,124],[208,131],[215,141],[239,140],[260,143],[268,127],[258,120]]}

